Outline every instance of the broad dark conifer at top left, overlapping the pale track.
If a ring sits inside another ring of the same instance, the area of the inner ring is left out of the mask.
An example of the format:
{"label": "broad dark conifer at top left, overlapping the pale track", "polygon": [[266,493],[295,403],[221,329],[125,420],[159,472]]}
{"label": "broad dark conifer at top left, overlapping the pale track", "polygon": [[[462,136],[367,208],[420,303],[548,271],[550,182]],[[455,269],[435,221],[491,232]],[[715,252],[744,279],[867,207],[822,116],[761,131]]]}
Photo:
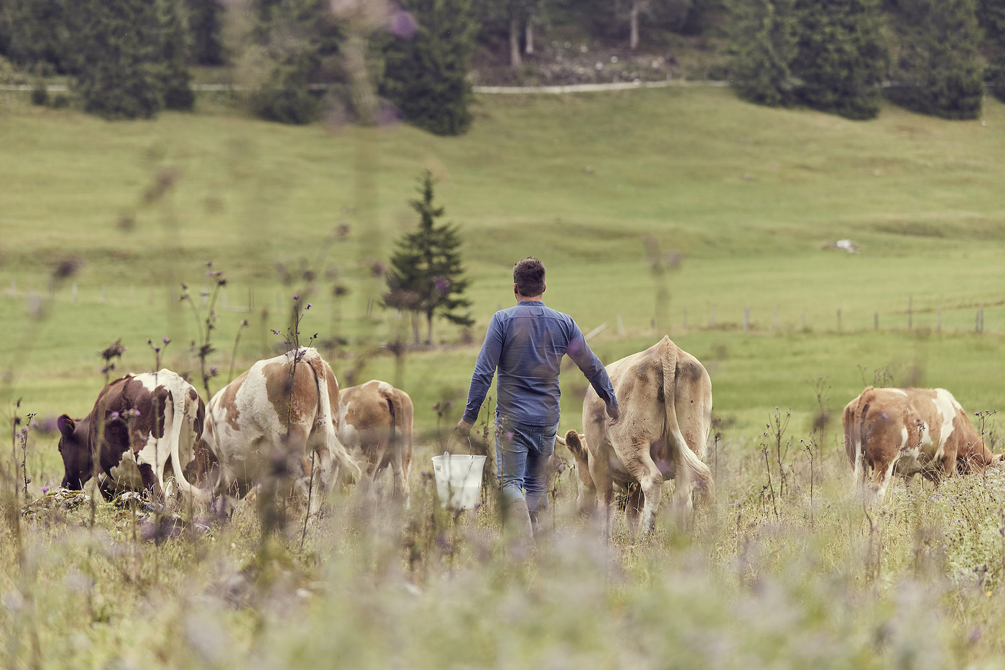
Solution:
{"label": "broad dark conifer at top left, overlapping the pale track", "polygon": [[107,119],[149,119],[164,106],[162,22],[149,0],[81,0],[75,88]]}

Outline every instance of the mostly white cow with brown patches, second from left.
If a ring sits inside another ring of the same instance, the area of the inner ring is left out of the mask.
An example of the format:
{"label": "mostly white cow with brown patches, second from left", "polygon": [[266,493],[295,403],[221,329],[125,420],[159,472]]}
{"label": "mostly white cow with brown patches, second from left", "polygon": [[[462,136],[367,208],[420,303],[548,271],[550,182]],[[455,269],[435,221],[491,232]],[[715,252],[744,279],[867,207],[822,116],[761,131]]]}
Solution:
{"label": "mostly white cow with brown patches, second from left", "polygon": [[[267,476],[291,477],[293,488],[310,497],[311,513],[317,512],[321,493],[334,481],[333,458],[360,477],[339,441],[338,413],[339,382],[318,350],[301,348],[254,364],[220,389],[206,412],[203,432],[220,463],[217,492],[231,486],[246,492]],[[311,486],[319,495],[311,495]]]}

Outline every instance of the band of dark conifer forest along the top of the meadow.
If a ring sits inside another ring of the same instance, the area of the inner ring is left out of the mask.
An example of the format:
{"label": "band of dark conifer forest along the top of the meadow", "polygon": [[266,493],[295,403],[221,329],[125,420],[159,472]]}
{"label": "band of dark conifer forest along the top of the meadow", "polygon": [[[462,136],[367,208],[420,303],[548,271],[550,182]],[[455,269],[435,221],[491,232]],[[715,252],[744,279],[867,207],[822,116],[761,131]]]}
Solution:
{"label": "band of dark conifer forest along the top of the meadow", "polygon": [[521,67],[556,30],[631,50],[712,37],[742,97],[850,119],[884,94],[948,119],[976,118],[986,90],[1005,100],[1005,0],[0,0],[0,57],[67,75],[110,119],[191,109],[191,68],[229,65],[263,119],[337,108],[457,135],[474,50]]}

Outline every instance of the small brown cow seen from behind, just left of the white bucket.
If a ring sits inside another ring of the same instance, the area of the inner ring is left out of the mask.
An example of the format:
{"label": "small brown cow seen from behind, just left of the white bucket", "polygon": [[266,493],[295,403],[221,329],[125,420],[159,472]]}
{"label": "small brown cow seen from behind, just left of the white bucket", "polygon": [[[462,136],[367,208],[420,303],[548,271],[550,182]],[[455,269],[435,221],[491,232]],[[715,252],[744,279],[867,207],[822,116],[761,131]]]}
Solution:
{"label": "small brown cow seen from behind, just left of the white bucket", "polygon": [[339,395],[339,440],[367,463],[361,483],[372,487],[390,466],[394,496],[408,506],[412,464],[412,399],[387,382],[371,380]]}

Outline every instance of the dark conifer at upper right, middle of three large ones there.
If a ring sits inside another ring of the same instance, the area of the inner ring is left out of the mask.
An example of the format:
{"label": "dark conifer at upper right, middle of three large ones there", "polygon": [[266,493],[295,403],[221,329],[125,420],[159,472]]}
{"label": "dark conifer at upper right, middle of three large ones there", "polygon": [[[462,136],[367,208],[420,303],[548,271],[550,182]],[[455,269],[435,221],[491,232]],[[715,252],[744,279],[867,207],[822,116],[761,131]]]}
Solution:
{"label": "dark conifer at upper right, middle of three large ones there", "polygon": [[798,100],[849,119],[875,117],[887,60],[879,0],[797,0],[796,10]]}

